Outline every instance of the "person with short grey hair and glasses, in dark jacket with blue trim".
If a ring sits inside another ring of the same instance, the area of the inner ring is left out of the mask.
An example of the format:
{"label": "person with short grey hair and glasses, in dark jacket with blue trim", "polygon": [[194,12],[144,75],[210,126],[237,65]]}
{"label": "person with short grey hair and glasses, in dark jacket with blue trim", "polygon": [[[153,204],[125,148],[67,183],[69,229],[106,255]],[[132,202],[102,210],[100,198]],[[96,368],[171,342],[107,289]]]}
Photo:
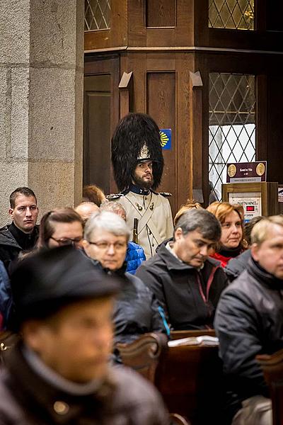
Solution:
{"label": "person with short grey hair and glasses, in dark jacket with blue trim", "polygon": [[122,278],[114,312],[115,342],[129,343],[146,332],[167,334],[158,302],[141,279],[125,272],[129,229],[113,212],[95,213],[86,222],[83,249],[103,270]]}

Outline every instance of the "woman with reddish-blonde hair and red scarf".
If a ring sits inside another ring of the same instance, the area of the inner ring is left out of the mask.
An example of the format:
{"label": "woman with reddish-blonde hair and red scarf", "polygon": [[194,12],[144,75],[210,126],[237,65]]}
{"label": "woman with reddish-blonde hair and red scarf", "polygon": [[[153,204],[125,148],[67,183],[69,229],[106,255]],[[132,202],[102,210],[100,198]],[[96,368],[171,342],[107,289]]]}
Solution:
{"label": "woman with reddish-blonde hair and red scarf", "polygon": [[226,267],[230,259],[244,251],[243,242],[243,207],[229,202],[215,201],[207,207],[221,224],[221,238],[216,251],[211,256],[221,261]]}

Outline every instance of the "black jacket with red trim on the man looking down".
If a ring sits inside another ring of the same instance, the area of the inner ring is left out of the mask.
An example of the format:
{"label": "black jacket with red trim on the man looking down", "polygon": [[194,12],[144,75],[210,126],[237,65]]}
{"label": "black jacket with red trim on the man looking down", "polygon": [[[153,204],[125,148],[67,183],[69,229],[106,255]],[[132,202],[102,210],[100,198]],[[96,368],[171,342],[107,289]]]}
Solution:
{"label": "black jacket with red trim on the man looking down", "polygon": [[156,295],[173,329],[213,327],[215,308],[227,281],[219,261],[208,258],[198,271],[161,244],[157,254],[139,266],[136,276]]}

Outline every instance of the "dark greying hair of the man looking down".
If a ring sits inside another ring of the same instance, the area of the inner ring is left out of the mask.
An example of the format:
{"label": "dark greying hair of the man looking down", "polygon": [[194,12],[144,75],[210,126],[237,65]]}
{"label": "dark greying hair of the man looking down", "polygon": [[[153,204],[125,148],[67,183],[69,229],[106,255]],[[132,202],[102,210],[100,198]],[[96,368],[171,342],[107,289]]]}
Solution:
{"label": "dark greying hair of the man looking down", "polygon": [[192,208],[183,212],[175,223],[175,230],[181,228],[183,234],[198,230],[202,237],[218,242],[221,237],[221,227],[219,221],[214,215],[203,209]]}

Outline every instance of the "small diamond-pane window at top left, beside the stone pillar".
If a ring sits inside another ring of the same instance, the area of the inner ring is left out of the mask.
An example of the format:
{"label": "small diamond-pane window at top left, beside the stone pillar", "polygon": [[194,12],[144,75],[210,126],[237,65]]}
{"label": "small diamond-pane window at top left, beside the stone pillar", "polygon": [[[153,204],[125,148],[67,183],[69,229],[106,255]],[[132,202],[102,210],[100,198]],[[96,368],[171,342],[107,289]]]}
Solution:
{"label": "small diamond-pane window at top left, beside the stone pillar", "polygon": [[85,0],[84,30],[108,30],[110,28],[110,11],[110,0]]}

